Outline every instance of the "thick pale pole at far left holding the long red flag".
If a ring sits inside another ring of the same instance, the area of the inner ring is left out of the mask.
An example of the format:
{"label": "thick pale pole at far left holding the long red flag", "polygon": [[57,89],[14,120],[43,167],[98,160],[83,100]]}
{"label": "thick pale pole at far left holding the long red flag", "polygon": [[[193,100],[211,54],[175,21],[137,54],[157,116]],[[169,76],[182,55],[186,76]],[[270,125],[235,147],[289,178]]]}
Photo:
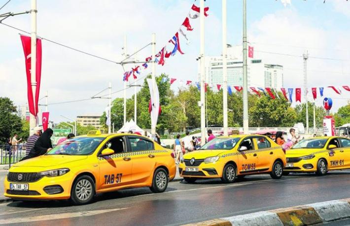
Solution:
{"label": "thick pale pole at far left holding the long red flag", "polygon": [[[32,0],[32,33],[31,33],[31,82],[32,82],[32,92],[33,92],[33,102],[35,102],[35,92],[36,92],[36,0]],[[34,104],[35,109],[35,104]],[[36,111],[37,109],[35,109]],[[30,114],[29,118],[29,133],[34,134],[34,128],[36,126],[36,117]]]}

